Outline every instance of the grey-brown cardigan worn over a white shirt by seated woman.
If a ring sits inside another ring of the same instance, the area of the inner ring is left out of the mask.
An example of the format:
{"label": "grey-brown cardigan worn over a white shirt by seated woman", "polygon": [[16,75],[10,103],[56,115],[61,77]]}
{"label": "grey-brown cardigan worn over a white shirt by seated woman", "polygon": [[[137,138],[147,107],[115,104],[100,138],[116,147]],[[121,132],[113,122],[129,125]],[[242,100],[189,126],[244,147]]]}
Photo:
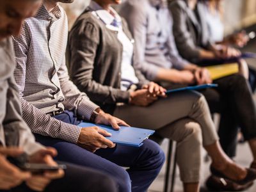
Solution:
{"label": "grey-brown cardigan worn over a white shirt by seated woman", "polygon": [[[125,34],[132,40],[125,20]],[[89,9],[76,20],[68,36],[70,77],[81,92],[102,109],[112,113],[117,102],[129,102],[129,92],[120,90],[123,47],[116,31],[106,28]],[[140,88],[148,81],[135,70]]]}

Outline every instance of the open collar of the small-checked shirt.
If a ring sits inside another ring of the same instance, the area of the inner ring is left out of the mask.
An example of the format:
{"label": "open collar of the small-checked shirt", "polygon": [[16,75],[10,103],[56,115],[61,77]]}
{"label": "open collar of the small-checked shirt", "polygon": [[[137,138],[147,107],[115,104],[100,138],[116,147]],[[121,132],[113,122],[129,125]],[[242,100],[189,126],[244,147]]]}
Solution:
{"label": "open collar of the small-checked shirt", "polygon": [[51,12],[48,12],[45,5],[42,4],[34,17],[44,20],[58,20],[61,17],[61,8],[57,5]]}

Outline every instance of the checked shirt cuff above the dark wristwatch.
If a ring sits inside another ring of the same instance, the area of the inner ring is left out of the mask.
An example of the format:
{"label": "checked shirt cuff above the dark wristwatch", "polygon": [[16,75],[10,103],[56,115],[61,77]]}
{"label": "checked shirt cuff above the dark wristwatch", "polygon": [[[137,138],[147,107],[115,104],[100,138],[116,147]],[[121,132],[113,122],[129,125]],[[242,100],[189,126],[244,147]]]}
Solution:
{"label": "checked shirt cuff above the dark wristwatch", "polygon": [[99,108],[99,106],[91,100],[83,100],[78,106],[77,115],[81,116],[84,120],[90,120],[92,112],[97,108]]}

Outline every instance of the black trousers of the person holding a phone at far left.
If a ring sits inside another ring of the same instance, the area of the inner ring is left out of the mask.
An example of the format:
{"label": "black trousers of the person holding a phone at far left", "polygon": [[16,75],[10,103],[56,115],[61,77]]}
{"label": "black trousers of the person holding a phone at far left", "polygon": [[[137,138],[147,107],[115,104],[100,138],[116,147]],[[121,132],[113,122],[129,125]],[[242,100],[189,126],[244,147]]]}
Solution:
{"label": "black trousers of the person holding a phone at far left", "polygon": [[[58,162],[60,164],[67,164]],[[1,190],[0,190],[1,191]],[[32,192],[26,184],[13,188],[8,192]],[[108,176],[96,170],[67,164],[65,177],[52,182],[45,188],[46,192],[116,192],[115,182]]]}

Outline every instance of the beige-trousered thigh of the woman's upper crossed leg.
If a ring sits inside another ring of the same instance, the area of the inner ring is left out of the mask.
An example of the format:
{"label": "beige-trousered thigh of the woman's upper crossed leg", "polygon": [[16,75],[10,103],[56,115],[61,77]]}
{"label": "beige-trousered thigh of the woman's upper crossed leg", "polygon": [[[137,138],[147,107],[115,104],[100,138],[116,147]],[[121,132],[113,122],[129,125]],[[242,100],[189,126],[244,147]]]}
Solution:
{"label": "beige-trousered thigh of the woman's upper crossed leg", "polygon": [[117,106],[114,116],[135,127],[157,130],[188,116],[200,97],[200,93],[197,92],[172,93],[147,107],[127,104]]}

